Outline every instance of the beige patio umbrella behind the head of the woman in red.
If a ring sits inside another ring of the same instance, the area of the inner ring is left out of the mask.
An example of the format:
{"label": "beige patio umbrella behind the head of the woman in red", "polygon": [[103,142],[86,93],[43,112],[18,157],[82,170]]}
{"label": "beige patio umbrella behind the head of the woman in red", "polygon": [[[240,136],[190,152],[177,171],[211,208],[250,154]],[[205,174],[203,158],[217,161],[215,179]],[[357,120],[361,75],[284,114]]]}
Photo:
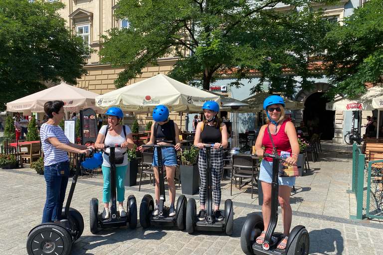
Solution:
{"label": "beige patio umbrella behind the head of the woman in red", "polygon": [[[256,112],[262,112],[263,111],[263,101],[265,101],[266,98],[272,96],[269,93],[260,92],[254,96],[251,96],[249,98],[246,98],[242,100],[242,103],[251,105],[248,108],[240,108],[238,111],[239,113],[256,113]],[[294,100],[286,99],[284,98],[283,101],[285,102],[285,109],[286,110],[301,110],[304,109],[305,106],[301,102],[297,102]]]}

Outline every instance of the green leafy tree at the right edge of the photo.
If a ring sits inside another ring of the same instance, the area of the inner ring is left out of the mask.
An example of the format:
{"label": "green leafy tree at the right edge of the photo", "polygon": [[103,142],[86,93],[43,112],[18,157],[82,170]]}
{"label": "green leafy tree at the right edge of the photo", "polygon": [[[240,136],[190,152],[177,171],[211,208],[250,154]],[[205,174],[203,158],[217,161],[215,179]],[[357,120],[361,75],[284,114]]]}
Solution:
{"label": "green leafy tree at the right edge of the photo", "polygon": [[356,97],[366,92],[366,83],[383,82],[382,13],[382,0],[367,1],[326,36],[326,75],[335,86],[329,98]]}

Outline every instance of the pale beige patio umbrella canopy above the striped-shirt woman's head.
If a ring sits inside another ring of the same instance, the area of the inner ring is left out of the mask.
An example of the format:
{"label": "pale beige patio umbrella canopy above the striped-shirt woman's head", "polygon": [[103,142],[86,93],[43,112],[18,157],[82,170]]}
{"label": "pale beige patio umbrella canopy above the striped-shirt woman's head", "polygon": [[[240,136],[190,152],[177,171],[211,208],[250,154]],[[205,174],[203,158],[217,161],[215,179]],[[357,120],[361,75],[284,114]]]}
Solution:
{"label": "pale beige patio umbrella canopy above the striped-shirt woman's head", "polygon": [[65,111],[93,108],[96,112],[101,113],[101,109],[95,106],[96,96],[99,95],[66,83],[61,83],[49,89],[7,103],[6,111],[23,112],[30,110],[33,113],[43,113],[44,104],[47,101],[62,100],[65,103]]}

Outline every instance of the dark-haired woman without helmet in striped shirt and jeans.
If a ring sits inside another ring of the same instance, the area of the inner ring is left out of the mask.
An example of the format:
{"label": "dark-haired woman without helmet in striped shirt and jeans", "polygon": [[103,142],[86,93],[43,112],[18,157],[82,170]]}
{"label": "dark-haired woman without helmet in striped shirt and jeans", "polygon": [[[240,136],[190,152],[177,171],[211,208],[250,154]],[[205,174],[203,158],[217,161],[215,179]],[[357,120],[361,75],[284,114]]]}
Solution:
{"label": "dark-haired woman without helmet in striped shirt and jeans", "polygon": [[42,223],[59,223],[61,220],[62,205],[65,198],[65,190],[69,179],[68,153],[86,153],[85,146],[71,143],[65,136],[64,131],[58,123],[64,119],[64,102],[48,101],[44,104],[44,112],[49,120],[41,125],[40,137],[42,150],[44,152],[44,177],[46,181],[46,202],[42,213]]}

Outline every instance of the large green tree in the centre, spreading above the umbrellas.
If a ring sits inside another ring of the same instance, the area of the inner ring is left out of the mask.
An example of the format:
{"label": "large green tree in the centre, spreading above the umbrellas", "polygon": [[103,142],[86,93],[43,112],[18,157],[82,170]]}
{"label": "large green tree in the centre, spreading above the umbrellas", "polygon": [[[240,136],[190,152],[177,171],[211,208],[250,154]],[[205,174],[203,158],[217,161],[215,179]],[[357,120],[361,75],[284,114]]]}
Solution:
{"label": "large green tree in the centre, spreading above the umbrellas", "polygon": [[[271,90],[292,94],[295,86],[311,88],[315,55],[329,29],[322,12],[313,11],[311,0],[120,0],[116,17],[129,27],[111,29],[102,36],[103,63],[124,67],[115,81],[120,88],[141,70],[167,54],[181,57],[169,76],[209,89],[225,74],[241,86],[249,72]],[[333,0],[317,0],[329,4]],[[275,11],[279,4],[294,5],[290,11]],[[184,57],[184,53],[186,57]],[[284,69],[292,75],[281,76]],[[310,71],[309,71],[310,70]],[[294,74],[302,80],[294,79]]]}

